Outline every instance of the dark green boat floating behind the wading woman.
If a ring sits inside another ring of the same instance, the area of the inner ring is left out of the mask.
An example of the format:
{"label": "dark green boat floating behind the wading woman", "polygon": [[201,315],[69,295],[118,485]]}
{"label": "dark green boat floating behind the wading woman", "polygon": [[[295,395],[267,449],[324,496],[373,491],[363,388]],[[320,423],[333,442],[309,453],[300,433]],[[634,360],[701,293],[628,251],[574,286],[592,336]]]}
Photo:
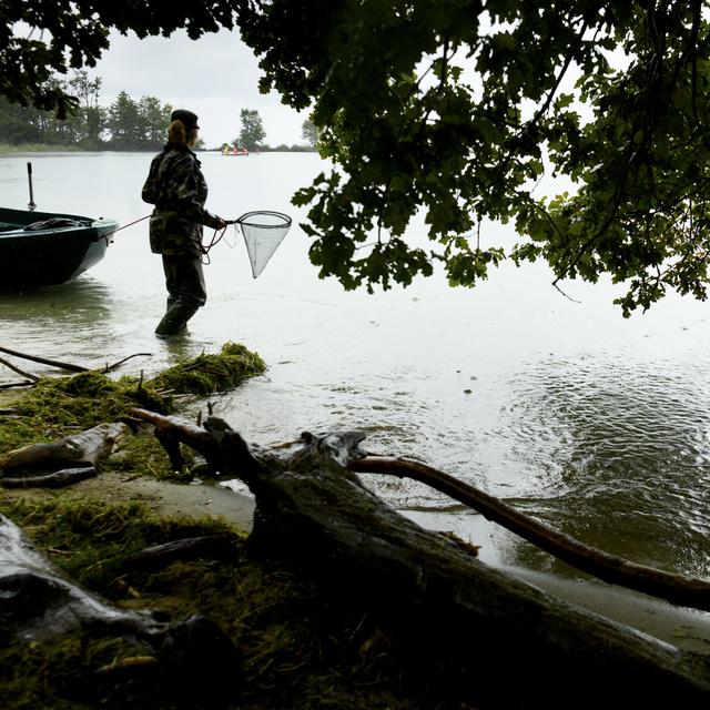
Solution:
{"label": "dark green boat floating behind the wading woman", "polygon": [[104,256],[114,220],[0,207],[0,290],[63,284]]}

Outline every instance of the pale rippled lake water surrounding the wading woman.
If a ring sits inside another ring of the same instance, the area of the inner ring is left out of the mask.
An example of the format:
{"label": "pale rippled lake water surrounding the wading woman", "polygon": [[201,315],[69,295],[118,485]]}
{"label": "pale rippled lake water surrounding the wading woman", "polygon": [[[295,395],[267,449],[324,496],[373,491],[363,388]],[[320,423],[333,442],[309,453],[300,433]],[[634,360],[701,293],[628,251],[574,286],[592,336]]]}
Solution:
{"label": "pale rippled lake water surrounding the wading woman", "polygon": [[[31,160],[38,210],[128,224],[150,213],[140,191],[151,156],[0,156],[0,203],[26,207]],[[710,579],[708,304],[669,296],[623,320],[611,285],[568,283],[572,302],[545,266],[513,264],[473,291],[439,275],[406,290],[345,293],[317,278],[298,227],[305,211],[290,203],[324,169],[316,155],[201,159],[213,212],[293,217],[257,280],[232,235],[232,247],[212,252],[209,303],[189,335],[155,339],[163,277],[143,221],[119,232],[75,283],[1,296],[0,343],[87,365],[152,353],[125,374],[244,343],[267,374],[213,400],[247,442],[363,429],[372,452],[426,462],[611,554]],[[412,231],[423,233],[420,224]],[[515,241],[504,227],[494,234]],[[17,375],[0,367],[0,379]],[[481,545],[486,561],[581,577],[424,486],[366,479],[423,525]]]}

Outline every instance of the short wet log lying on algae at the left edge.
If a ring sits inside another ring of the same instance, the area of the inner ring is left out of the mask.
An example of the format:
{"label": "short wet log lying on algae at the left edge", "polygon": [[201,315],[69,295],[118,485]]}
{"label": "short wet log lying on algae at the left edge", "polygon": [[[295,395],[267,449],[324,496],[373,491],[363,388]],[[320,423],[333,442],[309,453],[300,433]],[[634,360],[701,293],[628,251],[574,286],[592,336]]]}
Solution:
{"label": "short wet log lying on algae at the left edge", "polygon": [[95,476],[97,466],[129,433],[128,425],[112,422],[54,442],[17,448],[0,457],[0,484],[6,488],[59,488]]}

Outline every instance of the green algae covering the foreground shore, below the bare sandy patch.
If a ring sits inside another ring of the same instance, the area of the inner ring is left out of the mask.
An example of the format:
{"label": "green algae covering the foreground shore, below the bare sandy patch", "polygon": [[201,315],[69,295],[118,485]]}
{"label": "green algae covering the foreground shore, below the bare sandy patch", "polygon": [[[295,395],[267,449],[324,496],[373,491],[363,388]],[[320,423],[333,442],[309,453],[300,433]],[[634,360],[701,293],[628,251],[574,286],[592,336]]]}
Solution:
{"label": "green algae covering the foreground shore, below the bare sandy patch", "polygon": [[[12,638],[0,616],[3,710],[125,708],[328,708],[402,710],[462,708],[460,689],[355,598],[333,597],[284,560],[252,555],[242,534],[210,518],[159,518],[140,504],[67,500],[63,493],[0,491],[0,513],[38,550],[119,608],[152,610],[181,621],[203,615],[233,641],[229,696],[214,701],[197,671],[171,674],[155,653],[126,637],[65,633],[45,641]],[[135,570],[124,558],[146,546],[200,535],[226,535],[234,560],[173,561]]]}

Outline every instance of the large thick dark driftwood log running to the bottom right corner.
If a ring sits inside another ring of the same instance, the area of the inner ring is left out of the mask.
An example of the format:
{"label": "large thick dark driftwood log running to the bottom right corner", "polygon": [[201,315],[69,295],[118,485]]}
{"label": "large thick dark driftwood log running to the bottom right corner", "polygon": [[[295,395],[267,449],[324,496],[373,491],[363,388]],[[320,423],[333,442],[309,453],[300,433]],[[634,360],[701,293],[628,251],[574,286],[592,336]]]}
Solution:
{"label": "large thick dark driftwood log running to the bottom right corner", "polygon": [[[706,657],[574,607],[495,570],[397,514],[347,465],[364,435],[313,436],[250,450],[215,417],[197,427],[144,409],[175,468],[181,444],[256,499],[250,544],[287,556],[373,613],[423,653],[437,652],[493,707],[706,707]],[[574,693],[574,694],[570,694]]]}

